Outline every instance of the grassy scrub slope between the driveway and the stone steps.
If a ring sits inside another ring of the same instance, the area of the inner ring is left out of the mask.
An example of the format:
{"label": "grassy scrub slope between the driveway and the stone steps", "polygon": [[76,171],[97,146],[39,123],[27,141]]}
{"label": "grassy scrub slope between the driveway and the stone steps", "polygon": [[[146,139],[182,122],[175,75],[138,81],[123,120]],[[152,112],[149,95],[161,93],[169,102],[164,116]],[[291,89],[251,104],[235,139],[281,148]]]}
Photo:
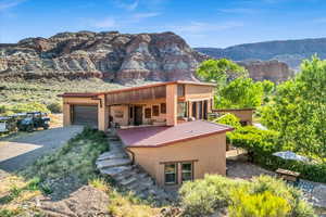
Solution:
{"label": "grassy scrub slope between the driveway and the stone steps", "polygon": [[[16,175],[1,180],[0,216],[26,215],[38,212],[32,199],[49,195],[60,199],[95,179],[95,161],[109,149],[103,132],[85,128],[60,150],[35,162]],[[71,181],[68,186],[64,184]]]}

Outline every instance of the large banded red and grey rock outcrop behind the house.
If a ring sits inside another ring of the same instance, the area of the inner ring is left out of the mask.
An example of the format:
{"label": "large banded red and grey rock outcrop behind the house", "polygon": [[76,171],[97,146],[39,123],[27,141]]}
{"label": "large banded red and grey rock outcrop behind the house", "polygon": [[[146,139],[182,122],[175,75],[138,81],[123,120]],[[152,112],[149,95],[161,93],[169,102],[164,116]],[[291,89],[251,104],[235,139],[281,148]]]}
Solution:
{"label": "large banded red and grey rock outcrop behind the house", "polygon": [[61,33],[0,44],[0,77],[195,80],[204,59],[173,33]]}

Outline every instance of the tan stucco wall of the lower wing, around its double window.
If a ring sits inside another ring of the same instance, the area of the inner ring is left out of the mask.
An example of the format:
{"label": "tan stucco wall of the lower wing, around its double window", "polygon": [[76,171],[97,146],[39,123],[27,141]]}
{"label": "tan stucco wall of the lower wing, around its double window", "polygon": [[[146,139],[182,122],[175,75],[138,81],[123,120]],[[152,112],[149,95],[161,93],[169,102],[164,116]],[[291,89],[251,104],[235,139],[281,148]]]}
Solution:
{"label": "tan stucco wall of the lower wing, around its double window", "polygon": [[203,178],[205,174],[225,175],[225,133],[217,133],[160,148],[129,149],[135,153],[135,162],[155,178],[159,184],[164,184],[164,162],[196,161],[195,179]]}

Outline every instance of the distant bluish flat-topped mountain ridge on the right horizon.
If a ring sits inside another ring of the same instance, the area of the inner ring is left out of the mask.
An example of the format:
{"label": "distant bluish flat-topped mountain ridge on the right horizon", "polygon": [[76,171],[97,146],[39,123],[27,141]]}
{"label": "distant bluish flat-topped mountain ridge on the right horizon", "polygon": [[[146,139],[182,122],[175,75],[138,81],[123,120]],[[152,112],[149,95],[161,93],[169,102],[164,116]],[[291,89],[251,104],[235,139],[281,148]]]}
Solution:
{"label": "distant bluish flat-topped mountain ridge on the right horizon", "polygon": [[212,58],[227,58],[233,61],[269,61],[278,60],[287,63],[292,69],[298,71],[303,59],[317,53],[326,59],[326,38],[302,40],[278,40],[258,43],[220,48],[195,48],[195,50]]}

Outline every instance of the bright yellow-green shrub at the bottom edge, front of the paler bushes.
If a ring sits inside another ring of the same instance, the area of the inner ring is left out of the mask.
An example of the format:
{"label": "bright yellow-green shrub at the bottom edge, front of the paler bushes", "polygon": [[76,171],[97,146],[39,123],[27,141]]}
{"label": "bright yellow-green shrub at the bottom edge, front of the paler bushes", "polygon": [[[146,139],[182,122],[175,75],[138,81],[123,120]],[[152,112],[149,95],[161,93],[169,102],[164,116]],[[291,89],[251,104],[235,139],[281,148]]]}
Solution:
{"label": "bright yellow-green shrub at the bottom edge, front of the paler bushes", "polygon": [[244,188],[233,190],[231,201],[229,217],[287,217],[290,212],[288,202],[269,191],[250,194]]}

